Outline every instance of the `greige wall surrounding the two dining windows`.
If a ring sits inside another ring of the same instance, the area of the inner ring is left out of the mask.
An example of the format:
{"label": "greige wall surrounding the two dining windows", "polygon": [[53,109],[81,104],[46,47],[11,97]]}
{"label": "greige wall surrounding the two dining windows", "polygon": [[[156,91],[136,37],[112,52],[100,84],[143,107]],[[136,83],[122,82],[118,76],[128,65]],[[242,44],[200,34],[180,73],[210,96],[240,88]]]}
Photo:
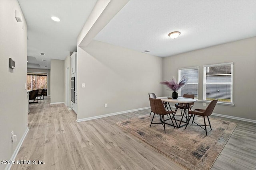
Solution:
{"label": "greige wall surrounding the two dining windows", "polygon": [[[255,75],[256,75],[256,37],[216,45],[163,59],[163,78],[178,79],[178,68],[199,66],[199,100],[203,100],[203,65],[234,62],[233,102],[235,106],[217,105],[214,113],[256,120]],[[164,96],[171,91],[163,90]],[[196,103],[194,108],[205,108]]]}

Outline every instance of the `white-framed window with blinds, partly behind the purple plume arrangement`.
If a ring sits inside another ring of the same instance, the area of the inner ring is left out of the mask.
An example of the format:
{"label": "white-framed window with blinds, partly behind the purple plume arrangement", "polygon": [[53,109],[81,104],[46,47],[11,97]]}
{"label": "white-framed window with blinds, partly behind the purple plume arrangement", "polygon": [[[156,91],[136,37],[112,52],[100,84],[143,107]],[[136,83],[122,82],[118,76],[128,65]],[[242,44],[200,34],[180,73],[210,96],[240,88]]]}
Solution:
{"label": "white-framed window with blinds, partly behind the purple plume arrangement", "polygon": [[188,77],[186,86],[179,90],[179,96],[183,94],[194,94],[198,98],[198,66],[190,68],[179,68],[179,81],[183,76]]}

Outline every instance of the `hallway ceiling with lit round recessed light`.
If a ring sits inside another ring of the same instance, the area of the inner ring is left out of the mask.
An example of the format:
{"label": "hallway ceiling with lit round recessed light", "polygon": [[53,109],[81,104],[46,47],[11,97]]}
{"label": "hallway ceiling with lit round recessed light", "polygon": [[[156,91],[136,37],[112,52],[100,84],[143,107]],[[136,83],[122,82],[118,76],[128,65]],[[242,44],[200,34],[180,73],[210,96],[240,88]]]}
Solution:
{"label": "hallway ceiling with lit round recessed light", "polygon": [[[39,64],[39,68],[50,69],[50,59],[64,60],[69,51],[76,51],[77,36],[96,1],[18,0],[28,25],[28,56],[37,61],[28,57],[28,68],[38,68],[35,64]],[[52,16],[60,22],[51,20]]]}

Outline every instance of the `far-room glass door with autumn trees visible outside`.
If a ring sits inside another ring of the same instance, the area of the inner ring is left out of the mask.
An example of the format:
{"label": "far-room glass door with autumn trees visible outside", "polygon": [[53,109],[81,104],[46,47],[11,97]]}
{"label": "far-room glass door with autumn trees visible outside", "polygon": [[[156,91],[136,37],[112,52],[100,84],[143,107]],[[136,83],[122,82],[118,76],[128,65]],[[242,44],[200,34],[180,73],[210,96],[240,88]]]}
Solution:
{"label": "far-room glass door with autumn trees visible outside", "polygon": [[47,73],[28,72],[27,89],[36,90],[38,88],[47,89]]}

